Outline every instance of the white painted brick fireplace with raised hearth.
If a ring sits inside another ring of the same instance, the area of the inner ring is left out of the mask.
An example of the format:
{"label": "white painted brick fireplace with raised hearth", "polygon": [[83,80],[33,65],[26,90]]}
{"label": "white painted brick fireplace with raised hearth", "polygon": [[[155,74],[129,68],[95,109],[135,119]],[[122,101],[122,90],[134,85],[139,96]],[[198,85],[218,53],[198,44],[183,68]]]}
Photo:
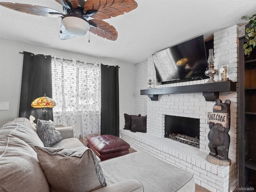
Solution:
{"label": "white painted brick fireplace with raised hearth", "polygon": [[[242,36],[240,26],[234,25],[214,33],[215,69],[222,61],[228,62],[228,72],[233,82],[238,82],[238,37]],[[208,51],[208,50],[206,50]],[[230,166],[218,166],[206,160],[208,148],[207,112],[212,112],[215,102],[206,102],[202,93],[159,95],[158,101],[140,95],[147,89],[147,77],[151,72],[155,76],[152,58],[135,66],[135,114],[147,115],[147,133],[120,130],[122,139],[135,150],[145,151],[178,168],[194,175],[196,184],[212,192],[228,192],[230,187],[238,185],[238,93],[220,93],[219,98],[231,101],[230,148],[228,157]],[[215,79],[218,77],[215,77]],[[204,84],[207,80],[158,85],[153,79],[154,88]],[[195,148],[164,138],[164,115],[200,119],[200,148]],[[231,190],[232,191],[232,190]]]}

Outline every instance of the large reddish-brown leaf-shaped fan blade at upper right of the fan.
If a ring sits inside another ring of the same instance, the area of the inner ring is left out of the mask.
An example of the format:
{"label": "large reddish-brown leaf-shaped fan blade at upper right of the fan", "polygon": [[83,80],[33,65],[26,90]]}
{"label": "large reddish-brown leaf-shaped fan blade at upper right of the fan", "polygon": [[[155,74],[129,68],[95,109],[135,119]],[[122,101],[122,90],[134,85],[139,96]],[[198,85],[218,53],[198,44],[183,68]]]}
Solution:
{"label": "large reddish-brown leaf-shaped fan blade at upper right of the fan", "polygon": [[98,10],[90,16],[94,19],[108,19],[134,10],[138,4],[134,0],[87,0],[84,4],[85,12]]}

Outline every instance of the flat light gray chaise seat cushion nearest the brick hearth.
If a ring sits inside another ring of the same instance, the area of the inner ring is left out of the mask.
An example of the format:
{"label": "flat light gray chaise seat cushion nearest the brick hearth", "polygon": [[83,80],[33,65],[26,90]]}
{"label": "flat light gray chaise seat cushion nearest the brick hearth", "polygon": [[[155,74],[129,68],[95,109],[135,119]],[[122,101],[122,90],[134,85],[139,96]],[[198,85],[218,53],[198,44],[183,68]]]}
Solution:
{"label": "flat light gray chaise seat cushion nearest the brick hearth", "polygon": [[128,178],[143,184],[145,192],[192,192],[192,174],[172,166],[146,152],[138,151],[100,162],[107,185]]}

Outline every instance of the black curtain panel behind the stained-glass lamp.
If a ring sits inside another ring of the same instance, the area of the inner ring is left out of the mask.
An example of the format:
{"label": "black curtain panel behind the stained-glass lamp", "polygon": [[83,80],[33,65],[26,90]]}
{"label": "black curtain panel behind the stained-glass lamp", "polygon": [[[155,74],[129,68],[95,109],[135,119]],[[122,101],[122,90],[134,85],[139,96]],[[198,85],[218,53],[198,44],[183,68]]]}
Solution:
{"label": "black curtain panel behind the stained-glass lamp", "polygon": [[[52,108],[48,108],[48,113],[42,116],[42,109],[31,106],[32,101],[44,96],[44,94],[52,98],[51,60],[51,56],[24,52],[19,117],[29,119],[30,115],[32,115],[36,120],[37,118],[53,120]],[[36,120],[34,121],[35,123]]]}

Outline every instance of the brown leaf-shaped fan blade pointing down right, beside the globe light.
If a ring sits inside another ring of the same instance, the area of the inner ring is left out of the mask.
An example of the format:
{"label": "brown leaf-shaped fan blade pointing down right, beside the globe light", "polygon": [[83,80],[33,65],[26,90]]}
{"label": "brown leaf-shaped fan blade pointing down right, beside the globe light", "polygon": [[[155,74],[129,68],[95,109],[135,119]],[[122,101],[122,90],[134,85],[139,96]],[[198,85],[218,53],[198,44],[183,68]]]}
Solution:
{"label": "brown leaf-shaped fan blade pointing down right, beside the globe light", "polygon": [[117,31],[114,26],[110,25],[109,23],[102,21],[102,20],[97,20],[97,19],[92,19],[88,21],[90,24],[90,32],[93,34],[96,34],[100,37],[106,38],[108,40],[116,40],[117,39]]}

